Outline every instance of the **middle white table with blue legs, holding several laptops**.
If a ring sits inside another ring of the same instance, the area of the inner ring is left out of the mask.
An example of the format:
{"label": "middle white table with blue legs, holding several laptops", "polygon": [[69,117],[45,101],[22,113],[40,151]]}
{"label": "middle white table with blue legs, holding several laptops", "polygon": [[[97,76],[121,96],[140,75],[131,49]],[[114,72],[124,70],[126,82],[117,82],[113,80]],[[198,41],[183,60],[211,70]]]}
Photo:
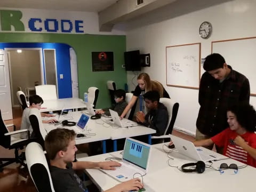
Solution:
{"label": "middle white table with blue legs, holding several laptops", "polygon": [[[82,113],[89,115],[87,114],[87,111],[74,111],[74,112],[69,112],[67,115],[62,115],[59,121],[68,120],[71,122],[78,122]],[[47,118],[44,117],[43,119],[50,119],[50,118],[52,117],[47,117]],[[54,118],[58,119],[59,116],[57,115]],[[53,129],[62,127],[62,125],[43,123],[43,127],[48,133]],[[65,126],[62,128],[73,129],[75,131],[82,131],[77,126]],[[88,132],[87,130],[90,130],[90,131]],[[89,135],[87,138],[76,138],[76,144],[82,144],[82,143],[93,142],[93,141],[103,141],[103,153],[106,153],[107,139],[113,139],[114,145],[116,145],[116,139],[121,139],[126,137],[135,137],[135,136],[145,135],[145,134],[152,134],[155,132],[156,132],[155,130],[145,126],[141,126],[141,125],[129,127],[129,128],[120,128],[120,127],[118,128],[113,122],[110,122],[110,121],[106,121],[102,119],[96,119],[96,120],[90,119],[83,133],[85,134],[95,133],[95,135]],[[117,150],[116,147],[114,147],[114,151],[116,150]]]}

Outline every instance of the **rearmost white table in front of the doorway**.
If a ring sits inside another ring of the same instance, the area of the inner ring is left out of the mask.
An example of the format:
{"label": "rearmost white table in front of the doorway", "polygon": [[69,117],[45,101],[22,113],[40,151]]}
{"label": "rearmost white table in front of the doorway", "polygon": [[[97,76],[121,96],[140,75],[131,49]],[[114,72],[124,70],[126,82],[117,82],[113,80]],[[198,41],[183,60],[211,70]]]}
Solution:
{"label": "rearmost white table in front of the doorway", "polygon": [[41,106],[40,112],[55,111],[64,109],[78,109],[86,108],[85,102],[79,98],[65,98],[65,99],[54,99],[44,100]]}

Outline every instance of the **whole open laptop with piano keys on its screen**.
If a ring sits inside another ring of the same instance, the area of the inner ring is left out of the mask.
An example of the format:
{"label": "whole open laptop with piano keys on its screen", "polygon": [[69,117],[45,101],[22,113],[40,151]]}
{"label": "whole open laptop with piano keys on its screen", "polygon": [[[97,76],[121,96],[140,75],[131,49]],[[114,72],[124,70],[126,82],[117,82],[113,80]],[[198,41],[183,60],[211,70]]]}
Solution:
{"label": "whole open laptop with piano keys on its screen", "polygon": [[121,182],[141,177],[148,171],[150,154],[151,145],[126,138],[122,161],[120,162],[122,166],[116,167],[116,170],[100,170]]}

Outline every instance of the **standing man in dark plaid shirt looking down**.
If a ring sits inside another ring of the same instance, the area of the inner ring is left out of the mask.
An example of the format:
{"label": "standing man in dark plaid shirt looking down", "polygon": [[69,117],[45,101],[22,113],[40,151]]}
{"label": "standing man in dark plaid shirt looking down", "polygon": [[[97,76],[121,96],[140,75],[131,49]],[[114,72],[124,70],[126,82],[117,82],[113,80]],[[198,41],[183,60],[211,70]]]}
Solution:
{"label": "standing man in dark plaid shirt looking down", "polygon": [[[227,107],[250,100],[248,79],[228,66],[220,54],[208,55],[203,68],[206,71],[199,86],[196,140],[208,139],[225,130]],[[221,153],[221,149],[217,151]]]}

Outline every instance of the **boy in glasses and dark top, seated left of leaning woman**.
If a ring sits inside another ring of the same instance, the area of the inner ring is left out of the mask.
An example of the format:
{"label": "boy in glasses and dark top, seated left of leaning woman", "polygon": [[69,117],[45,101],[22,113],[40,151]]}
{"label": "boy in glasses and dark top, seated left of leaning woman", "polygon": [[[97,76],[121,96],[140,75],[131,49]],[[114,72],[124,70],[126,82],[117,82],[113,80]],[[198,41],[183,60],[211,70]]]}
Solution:
{"label": "boy in glasses and dark top, seated left of leaning woman", "polygon": [[127,102],[125,101],[125,91],[122,89],[116,90],[114,95],[116,104],[109,108],[96,111],[97,114],[110,115],[109,109],[116,111],[119,116],[123,113],[125,107],[127,106]]}

